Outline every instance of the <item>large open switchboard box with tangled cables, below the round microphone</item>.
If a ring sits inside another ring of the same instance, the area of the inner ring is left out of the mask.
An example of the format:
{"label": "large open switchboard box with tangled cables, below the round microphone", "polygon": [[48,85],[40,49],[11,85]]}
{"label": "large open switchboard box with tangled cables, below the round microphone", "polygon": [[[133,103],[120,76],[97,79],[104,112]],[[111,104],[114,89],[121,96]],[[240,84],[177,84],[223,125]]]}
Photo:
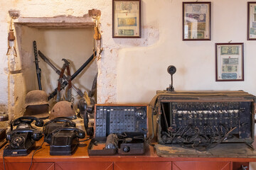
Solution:
{"label": "large open switchboard box with tangled cables, below the round microphone", "polygon": [[255,96],[245,91],[157,91],[156,103],[159,144],[254,141]]}

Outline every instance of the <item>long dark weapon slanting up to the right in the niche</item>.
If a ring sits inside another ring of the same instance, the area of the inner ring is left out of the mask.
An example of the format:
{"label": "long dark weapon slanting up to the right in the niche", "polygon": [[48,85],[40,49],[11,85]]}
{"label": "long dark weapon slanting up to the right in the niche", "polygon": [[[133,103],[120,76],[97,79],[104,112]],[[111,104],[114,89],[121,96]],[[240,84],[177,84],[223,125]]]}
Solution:
{"label": "long dark weapon slanting up to the right in the niche", "polygon": [[[75,77],[78,76],[78,74],[80,74],[80,72],[82,72],[83,69],[85,69],[85,67],[94,59],[94,56],[96,55],[96,51],[92,54],[92,56],[90,58],[88,58],[88,60],[82,64],[82,66],[71,76],[71,80],[75,79]],[[65,88],[65,86],[68,85],[68,81],[64,81],[61,84],[61,90]],[[51,98],[54,98],[54,96],[57,94],[58,88],[54,89],[54,91],[50,94],[50,96],[48,96],[48,101],[50,101]]]}

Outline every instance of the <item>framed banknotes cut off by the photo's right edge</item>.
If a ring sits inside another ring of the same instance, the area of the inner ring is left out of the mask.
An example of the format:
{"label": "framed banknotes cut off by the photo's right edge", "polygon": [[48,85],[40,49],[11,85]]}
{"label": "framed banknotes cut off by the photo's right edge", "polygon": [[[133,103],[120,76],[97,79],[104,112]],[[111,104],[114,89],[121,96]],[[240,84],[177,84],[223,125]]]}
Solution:
{"label": "framed banknotes cut off by the photo's right edge", "polygon": [[256,1],[247,2],[247,40],[256,40]]}

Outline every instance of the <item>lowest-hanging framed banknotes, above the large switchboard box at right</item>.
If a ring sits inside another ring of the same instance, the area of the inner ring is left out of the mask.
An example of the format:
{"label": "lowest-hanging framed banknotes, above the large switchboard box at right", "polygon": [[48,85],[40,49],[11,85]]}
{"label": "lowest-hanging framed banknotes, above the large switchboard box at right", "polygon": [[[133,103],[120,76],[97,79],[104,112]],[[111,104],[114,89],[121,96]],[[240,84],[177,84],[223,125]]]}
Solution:
{"label": "lowest-hanging framed banknotes, above the large switchboard box at right", "polygon": [[216,81],[244,81],[243,43],[216,43]]}

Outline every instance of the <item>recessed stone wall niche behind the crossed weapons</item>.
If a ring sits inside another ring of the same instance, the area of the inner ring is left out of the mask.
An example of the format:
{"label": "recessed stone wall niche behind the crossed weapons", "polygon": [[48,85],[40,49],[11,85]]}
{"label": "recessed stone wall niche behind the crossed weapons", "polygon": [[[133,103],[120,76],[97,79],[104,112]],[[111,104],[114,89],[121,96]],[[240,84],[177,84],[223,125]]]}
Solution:
{"label": "recessed stone wall niche behind the crossed weapons", "polygon": [[[33,41],[37,50],[43,52],[58,69],[63,67],[66,59],[70,62],[71,75],[93,54],[92,18],[86,14],[82,17],[56,16],[46,18],[18,18],[14,22],[16,32],[17,57],[9,59],[9,116],[11,119],[23,115],[23,105],[28,91],[38,89],[36,77]],[[38,55],[41,68],[41,84],[43,91],[50,94],[58,86],[59,75]],[[90,91],[92,81],[97,74],[97,61],[94,60],[73,79],[82,92]],[[65,71],[65,74],[67,72]],[[66,91],[61,91],[65,98]],[[77,108],[80,96],[72,89],[74,106]],[[49,101],[50,108],[55,98]]]}

